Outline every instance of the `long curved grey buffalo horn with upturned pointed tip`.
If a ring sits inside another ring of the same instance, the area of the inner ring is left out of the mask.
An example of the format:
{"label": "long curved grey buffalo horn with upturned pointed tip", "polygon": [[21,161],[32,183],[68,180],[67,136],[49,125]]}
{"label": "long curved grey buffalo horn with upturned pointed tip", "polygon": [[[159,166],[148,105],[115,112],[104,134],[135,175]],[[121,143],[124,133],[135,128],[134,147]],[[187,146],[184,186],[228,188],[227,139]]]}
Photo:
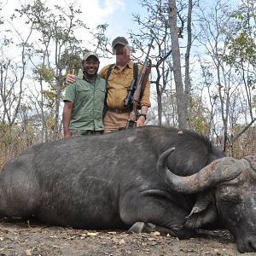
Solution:
{"label": "long curved grey buffalo horn with upturned pointed tip", "polygon": [[201,192],[217,183],[233,179],[242,171],[243,165],[238,163],[238,160],[224,157],[212,161],[210,165],[191,176],[177,176],[167,168],[167,159],[174,150],[175,148],[169,148],[160,155],[157,161],[157,171],[160,173],[160,177],[177,192],[186,194]]}

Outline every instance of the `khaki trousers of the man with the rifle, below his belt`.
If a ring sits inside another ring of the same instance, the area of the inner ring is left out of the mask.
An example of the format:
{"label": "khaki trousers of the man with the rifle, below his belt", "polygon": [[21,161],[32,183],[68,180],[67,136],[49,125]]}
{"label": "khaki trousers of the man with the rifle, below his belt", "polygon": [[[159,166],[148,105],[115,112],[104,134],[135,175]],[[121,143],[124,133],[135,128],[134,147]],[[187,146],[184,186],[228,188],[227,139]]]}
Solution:
{"label": "khaki trousers of the man with the rifle, below his belt", "polygon": [[115,113],[107,111],[103,119],[104,133],[125,129],[129,116],[130,113]]}

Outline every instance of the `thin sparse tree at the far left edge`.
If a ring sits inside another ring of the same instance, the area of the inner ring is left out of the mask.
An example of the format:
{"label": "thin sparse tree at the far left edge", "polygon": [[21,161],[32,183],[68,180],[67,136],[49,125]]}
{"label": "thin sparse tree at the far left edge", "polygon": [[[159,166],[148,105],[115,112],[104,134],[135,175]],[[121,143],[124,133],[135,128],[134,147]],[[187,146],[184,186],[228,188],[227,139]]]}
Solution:
{"label": "thin sparse tree at the far left edge", "polygon": [[[1,25],[0,25],[1,26]],[[15,29],[15,28],[14,28]],[[15,44],[13,34],[10,31],[0,38],[0,98],[2,105],[0,123],[2,125],[4,155],[5,158],[13,156],[15,148],[15,136],[13,136],[13,128],[16,126],[18,113],[22,102],[24,80],[26,74],[26,46],[32,35],[32,29],[29,30],[23,38],[15,29],[18,43]],[[9,48],[18,47],[20,50],[20,58],[9,56]],[[0,110],[1,111],[1,110]]]}

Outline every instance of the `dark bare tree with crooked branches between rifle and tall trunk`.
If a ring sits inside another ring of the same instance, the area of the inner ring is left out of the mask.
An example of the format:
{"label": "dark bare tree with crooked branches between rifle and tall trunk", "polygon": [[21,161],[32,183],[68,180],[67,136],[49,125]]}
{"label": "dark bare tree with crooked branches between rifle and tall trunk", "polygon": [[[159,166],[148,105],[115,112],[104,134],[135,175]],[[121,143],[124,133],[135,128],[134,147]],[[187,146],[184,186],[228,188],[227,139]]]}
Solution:
{"label": "dark bare tree with crooked branches between rifle and tall trunk", "polygon": [[[142,1],[143,8],[148,9],[148,16],[142,18],[141,15],[133,15],[134,20],[140,26],[139,32],[130,31],[131,43],[137,49],[133,58],[138,62],[143,62],[142,57],[147,52],[147,47],[151,38],[154,38],[154,49],[151,50],[150,59],[152,62],[152,72],[150,83],[155,84],[158,125],[162,124],[162,96],[167,90],[170,91],[172,64],[170,61],[172,48],[169,33],[167,3],[163,0]],[[137,57],[137,55],[140,55]]]}

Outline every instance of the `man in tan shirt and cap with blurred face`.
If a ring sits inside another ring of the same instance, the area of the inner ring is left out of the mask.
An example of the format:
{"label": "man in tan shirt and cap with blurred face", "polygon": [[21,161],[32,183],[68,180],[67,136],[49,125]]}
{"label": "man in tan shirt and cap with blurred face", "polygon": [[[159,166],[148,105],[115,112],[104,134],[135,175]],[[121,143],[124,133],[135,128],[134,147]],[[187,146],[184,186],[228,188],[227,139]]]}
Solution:
{"label": "man in tan shirt and cap with blurred face", "polygon": [[[116,63],[108,77],[107,113],[104,116],[104,133],[125,129],[131,108],[124,107],[124,100],[133,79],[133,62],[130,59],[130,46],[126,38],[118,37],[112,43],[113,54],[116,55]],[[108,67],[103,67],[100,77],[107,79]],[[139,65],[138,73],[142,70]],[[67,75],[67,82],[74,81],[73,75]],[[147,82],[141,99],[141,113],[137,119],[137,127],[143,126],[147,119],[150,84]]]}

